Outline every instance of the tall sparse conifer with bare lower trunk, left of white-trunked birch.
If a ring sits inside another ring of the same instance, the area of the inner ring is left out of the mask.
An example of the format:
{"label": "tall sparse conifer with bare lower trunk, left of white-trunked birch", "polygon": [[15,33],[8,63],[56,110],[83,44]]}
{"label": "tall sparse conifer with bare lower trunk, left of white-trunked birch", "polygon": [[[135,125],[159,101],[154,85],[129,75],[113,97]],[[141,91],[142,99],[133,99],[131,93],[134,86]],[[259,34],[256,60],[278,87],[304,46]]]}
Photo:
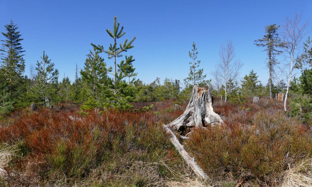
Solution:
{"label": "tall sparse conifer with bare lower trunk, left of white-trunked birch", "polygon": [[268,55],[268,68],[269,68],[269,89],[270,89],[270,98],[272,98],[272,74],[274,72],[274,65],[277,63],[275,56],[282,53],[279,48],[284,48],[286,44],[281,41],[278,36],[278,28],[280,26],[276,26],[276,24],[266,26],[266,35],[263,38],[256,40],[256,46],[266,47],[264,51],[267,52]]}

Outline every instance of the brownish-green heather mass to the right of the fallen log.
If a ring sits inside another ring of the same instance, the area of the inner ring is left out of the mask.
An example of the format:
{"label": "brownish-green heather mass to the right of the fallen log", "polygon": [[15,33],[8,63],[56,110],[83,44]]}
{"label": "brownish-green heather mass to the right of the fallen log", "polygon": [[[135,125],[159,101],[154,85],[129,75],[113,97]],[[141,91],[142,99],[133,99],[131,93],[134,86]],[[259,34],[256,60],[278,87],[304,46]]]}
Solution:
{"label": "brownish-green heather mass to the right of the fallen log", "polygon": [[190,137],[188,149],[203,169],[219,180],[231,173],[235,179],[270,183],[279,179],[289,164],[312,155],[311,132],[273,109],[257,112],[250,125],[231,121],[197,129]]}

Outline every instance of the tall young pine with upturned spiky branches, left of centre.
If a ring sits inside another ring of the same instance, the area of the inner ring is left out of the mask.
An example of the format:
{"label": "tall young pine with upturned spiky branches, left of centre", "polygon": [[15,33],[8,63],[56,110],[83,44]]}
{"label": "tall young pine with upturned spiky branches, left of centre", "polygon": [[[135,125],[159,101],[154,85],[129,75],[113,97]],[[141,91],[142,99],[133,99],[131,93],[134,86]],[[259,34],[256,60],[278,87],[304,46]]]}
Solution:
{"label": "tall young pine with upturned spiky branches, left of centre", "polygon": [[[113,83],[114,83],[114,92],[113,94],[116,95],[118,87],[117,87],[117,78],[118,78],[118,69],[117,69],[117,58],[122,56],[123,52],[126,52],[127,50],[133,48],[134,46],[132,45],[133,41],[136,39],[136,37],[134,37],[131,41],[128,42],[128,39],[126,39],[124,41],[124,43],[120,43],[119,46],[117,46],[117,39],[121,38],[122,36],[124,36],[126,34],[126,32],[124,32],[124,27],[122,26],[121,29],[119,30],[119,25],[120,23],[117,23],[117,17],[114,17],[114,26],[113,26],[113,31],[111,31],[110,29],[106,29],[106,32],[110,35],[110,37],[112,37],[114,39],[114,43],[110,44],[108,50],[104,50],[103,46],[100,45],[95,45],[92,44],[92,46],[94,46],[97,50],[101,51],[101,52],[105,52],[108,55],[108,58],[114,59],[114,73],[110,73],[113,75]],[[119,69],[120,70],[120,69]]]}

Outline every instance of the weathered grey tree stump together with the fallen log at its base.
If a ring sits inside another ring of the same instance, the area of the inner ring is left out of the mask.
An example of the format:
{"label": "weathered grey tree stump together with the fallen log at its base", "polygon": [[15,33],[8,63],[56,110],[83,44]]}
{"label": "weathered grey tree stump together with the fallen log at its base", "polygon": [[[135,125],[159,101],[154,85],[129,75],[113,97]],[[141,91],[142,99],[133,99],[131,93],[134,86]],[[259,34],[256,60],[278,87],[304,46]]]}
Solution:
{"label": "weathered grey tree stump together with the fallen log at its base", "polygon": [[191,99],[184,113],[168,125],[163,125],[169,135],[169,140],[178,150],[184,161],[191,167],[194,173],[201,179],[207,180],[208,175],[197,165],[195,160],[185,151],[171,129],[183,131],[187,127],[207,127],[222,123],[221,117],[213,112],[211,86],[208,89],[194,86]]}

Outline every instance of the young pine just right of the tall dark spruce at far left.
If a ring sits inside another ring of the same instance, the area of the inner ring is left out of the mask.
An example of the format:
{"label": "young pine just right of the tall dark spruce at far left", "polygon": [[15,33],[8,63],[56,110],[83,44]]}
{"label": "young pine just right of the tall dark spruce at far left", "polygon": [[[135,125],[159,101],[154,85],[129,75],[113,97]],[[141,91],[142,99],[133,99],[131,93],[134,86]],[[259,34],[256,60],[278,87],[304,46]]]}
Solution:
{"label": "young pine just right of the tall dark spruce at far left", "polygon": [[37,60],[36,86],[34,89],[37,100],[44,106],[50,106],[57,101],[59,72],[54,69],[54,63],[45,55],[44,51],[41,59],[40,62]]}

